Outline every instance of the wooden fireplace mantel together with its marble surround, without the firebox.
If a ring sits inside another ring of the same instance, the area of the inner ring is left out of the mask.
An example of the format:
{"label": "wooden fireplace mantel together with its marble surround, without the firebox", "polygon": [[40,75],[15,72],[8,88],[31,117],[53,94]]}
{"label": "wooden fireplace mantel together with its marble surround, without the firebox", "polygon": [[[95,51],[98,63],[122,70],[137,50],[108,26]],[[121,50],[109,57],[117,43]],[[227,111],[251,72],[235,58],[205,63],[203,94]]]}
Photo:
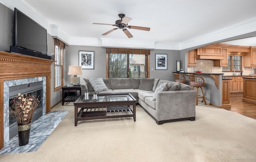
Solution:
{"label": "wooden fireplace mantel together with its marble surround, without the firebox", "polygon": [[9,141],[9,87],[42,81],[42,114],[50,112],[53,62],[44,58],[0,51],[0,149]]}

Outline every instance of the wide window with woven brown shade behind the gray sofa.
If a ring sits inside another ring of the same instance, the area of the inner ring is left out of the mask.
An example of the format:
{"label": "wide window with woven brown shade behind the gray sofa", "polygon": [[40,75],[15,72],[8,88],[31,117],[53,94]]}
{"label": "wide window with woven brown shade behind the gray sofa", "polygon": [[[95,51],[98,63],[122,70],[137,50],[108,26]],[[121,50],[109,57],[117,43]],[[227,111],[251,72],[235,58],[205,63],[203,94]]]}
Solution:
{"label": "wide window with woven brown shade behind the gray sofa", "polygon": [[107,78],[149,78],[150,50],[107,48]]}

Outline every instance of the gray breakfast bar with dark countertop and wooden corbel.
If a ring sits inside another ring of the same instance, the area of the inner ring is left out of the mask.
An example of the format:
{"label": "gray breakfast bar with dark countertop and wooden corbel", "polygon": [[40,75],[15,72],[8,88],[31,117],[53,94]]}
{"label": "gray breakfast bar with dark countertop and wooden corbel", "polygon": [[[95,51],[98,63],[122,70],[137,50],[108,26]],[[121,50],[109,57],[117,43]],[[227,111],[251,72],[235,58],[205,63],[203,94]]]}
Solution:
{"label": "gray breakfast bar with dark countertop and wooden corbel", "polygon": [[[193,72],[173,72],[182,74],[186,78],[186,84],[189,84],[187,74],[195,74],[204,78],[204,96],[207,104],[222,108],[222,74],[220,73],[193,73]],[[199,91],[199,95],[202,95]]]}

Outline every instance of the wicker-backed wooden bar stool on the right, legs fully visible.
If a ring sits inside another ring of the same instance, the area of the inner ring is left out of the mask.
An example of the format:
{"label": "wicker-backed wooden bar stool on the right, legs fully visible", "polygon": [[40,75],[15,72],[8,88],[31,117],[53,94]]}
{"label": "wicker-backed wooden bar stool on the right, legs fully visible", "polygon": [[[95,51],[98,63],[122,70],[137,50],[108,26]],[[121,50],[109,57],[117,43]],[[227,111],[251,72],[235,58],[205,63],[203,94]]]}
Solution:
{"label": "wicker-backed wooden bar stool on the right, legs fully visible", "polygon": [[[198,75],[194,75],[194,74],[187,74],[187,76],[188,76],[189,84],[192,86],[192,90],[196,87],[196,92],[197,92],[196,105],[198,105],[198,98],[204,98],[204,104],[206,104],[206,100],[204,97],[204,91],[202,89],[202,87],[204,86],[204,78],[202,78],[201,76],[198,76]],[[198,88],[201,88],[203,96],[198,95]]]}

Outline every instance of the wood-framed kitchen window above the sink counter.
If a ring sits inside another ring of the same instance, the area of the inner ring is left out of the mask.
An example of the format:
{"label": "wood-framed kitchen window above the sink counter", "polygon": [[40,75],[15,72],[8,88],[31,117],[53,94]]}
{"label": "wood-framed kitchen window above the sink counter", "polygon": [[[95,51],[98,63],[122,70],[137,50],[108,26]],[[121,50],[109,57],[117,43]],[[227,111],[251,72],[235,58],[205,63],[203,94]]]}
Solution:
{"label": "wood-framed kitchen window above the sink counter", "polygon": [[228,55],[228,66],[222,67],[222,71],[234,72],[242,71],[242,56]]}

